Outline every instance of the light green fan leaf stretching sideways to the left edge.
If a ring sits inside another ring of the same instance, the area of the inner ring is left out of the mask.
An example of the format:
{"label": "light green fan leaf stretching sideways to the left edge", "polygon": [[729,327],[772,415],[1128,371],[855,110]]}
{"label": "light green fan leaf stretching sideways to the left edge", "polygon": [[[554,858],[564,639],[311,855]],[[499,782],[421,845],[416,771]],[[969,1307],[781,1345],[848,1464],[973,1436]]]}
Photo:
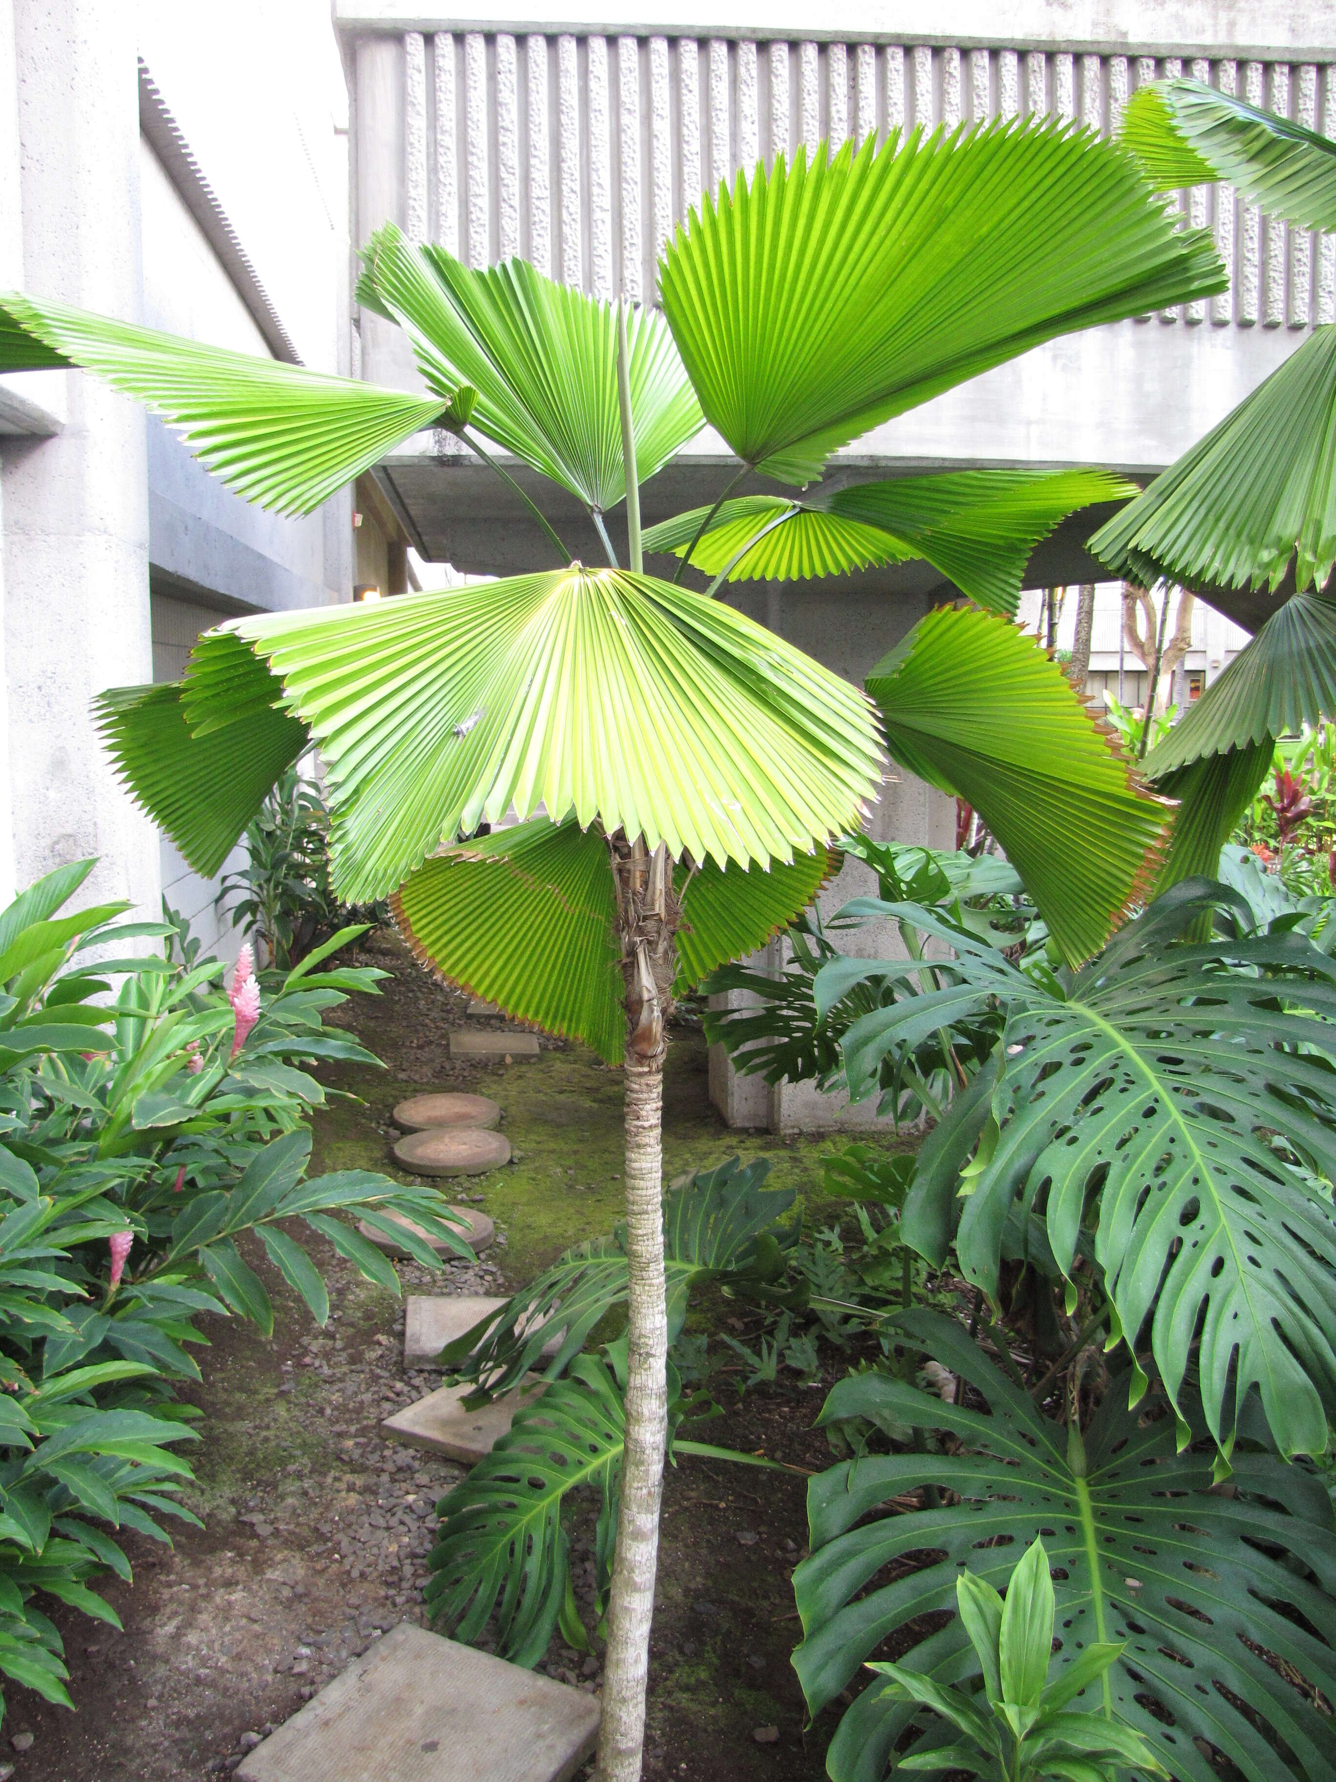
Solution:
{"label": "light green fan leaf stretching sideways to the left edge", "polygon": [[[34,356],[41,351],[48,356]],[[440,396],[381,390],[4,294],[0,369],[34,364],[82,365],[146,403],[230,488],[278,513],[312,513],[445,408]]]}

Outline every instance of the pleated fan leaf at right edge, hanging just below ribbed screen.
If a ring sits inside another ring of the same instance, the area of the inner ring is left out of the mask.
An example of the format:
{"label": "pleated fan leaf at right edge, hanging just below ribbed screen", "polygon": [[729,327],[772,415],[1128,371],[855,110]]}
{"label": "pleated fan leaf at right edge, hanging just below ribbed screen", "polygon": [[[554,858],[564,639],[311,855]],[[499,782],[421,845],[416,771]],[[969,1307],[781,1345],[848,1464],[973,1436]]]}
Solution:
{"label": "pleated fan leaf at right edge, hanging just below ribbed screen", "polygon": [[1322,588],[1336,561],[1336,328],[1297,353],[1090,540],[1151,586]]}

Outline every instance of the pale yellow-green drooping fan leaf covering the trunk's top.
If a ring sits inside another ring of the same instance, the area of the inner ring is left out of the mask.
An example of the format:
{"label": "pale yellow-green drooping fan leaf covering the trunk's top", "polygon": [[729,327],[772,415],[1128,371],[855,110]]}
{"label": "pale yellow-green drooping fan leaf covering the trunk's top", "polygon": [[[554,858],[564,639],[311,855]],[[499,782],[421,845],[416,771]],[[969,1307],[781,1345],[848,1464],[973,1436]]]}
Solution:
{"label": "pale yellow-green drooping fan leaf covering the trunk's top", "polygon": [[880,781],[862,695],[730,608],[615,570],[232,620],[187,668],[194,734],[255,697],[249,650],[321,745],[333,880],[387,896],[509,804],[673,857],[787,861]]}

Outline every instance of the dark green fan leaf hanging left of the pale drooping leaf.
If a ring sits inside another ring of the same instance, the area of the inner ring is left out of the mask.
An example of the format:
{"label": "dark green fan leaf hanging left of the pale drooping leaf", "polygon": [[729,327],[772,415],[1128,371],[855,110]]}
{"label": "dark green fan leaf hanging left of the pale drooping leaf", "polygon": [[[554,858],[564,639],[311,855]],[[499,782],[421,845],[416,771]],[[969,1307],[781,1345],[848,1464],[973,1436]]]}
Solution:
{"label": "dark green fan leaf hanging left of the pale drooping leaf", "polygon": [[258,697],[205,734],[192,734],[178,681],[109,688],[94,700],[98,731],[121,781],[205,879],[219,871],[308,743],[306,725],[276,704],[281,686],[253,656],[249,661]]}

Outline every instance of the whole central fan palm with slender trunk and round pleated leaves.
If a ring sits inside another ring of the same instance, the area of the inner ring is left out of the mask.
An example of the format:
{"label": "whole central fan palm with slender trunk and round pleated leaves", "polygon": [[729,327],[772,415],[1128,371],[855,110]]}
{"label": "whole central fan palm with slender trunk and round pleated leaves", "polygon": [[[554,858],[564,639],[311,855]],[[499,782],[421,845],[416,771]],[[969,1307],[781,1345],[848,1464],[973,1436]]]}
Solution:
{"label": "whole central fan palm with slender trunk and round pleated leaves", "polygon": [[[383,228],[358,296],[406,330],[426,394],[0,299],[0,367],[102,374],[276,511],[310,511],[433,426],[501,476],[483,440],[574,494],[607,544],[606,567],[568,561],[534,506],[550,568],[233,620],[198,642],[182,683],[102,700],[134,795],[207,875],[319,745],[337,895],[390,896],[433,971],[625,1069],[627,1436],[604,1782],[639,1773],[645,1718],[666,1427],[664,1019],[675,991],[812,900],[884,766],[864,693],[714,588],[684,586],[682,568],[697,545],[711,561],[727,547],[714,535],[737,519],[725,503],[746,470],[807,485],[868,428],[1063,331],[1220,289],[1222,269],[1210,239],[1174,232],[1129,155],[1026,121],[739,176],[677,232],[659,283],[663,315],[629,312],[520,260],[470,271]],[[741,470],[713,511],[675,522],[679,579],[648,577],[638,485],[704,421]],[[803,547],[798,572],[925,556],[976,597],[946,613],[949,634],[925,622],[882,665],[884,727],[914,772],[958,781],[985,820],[996,809],[999,834],[1021,838],[1037,807],[1035,896],[1072,957],[1133,895],[1163,807],[998,611],[1015,606],[1039,538],[1119,494],[1103,472],[916,478],[869,486],[864,506],[794,494],[757,522],[766,545]],[[604,519],[622,501],[627,568]],[[748,572],[734,549],[714,586]],[[1071,766],[1053,757],[1062,740]],[[511,805],[515,827],[477,838]]]}

